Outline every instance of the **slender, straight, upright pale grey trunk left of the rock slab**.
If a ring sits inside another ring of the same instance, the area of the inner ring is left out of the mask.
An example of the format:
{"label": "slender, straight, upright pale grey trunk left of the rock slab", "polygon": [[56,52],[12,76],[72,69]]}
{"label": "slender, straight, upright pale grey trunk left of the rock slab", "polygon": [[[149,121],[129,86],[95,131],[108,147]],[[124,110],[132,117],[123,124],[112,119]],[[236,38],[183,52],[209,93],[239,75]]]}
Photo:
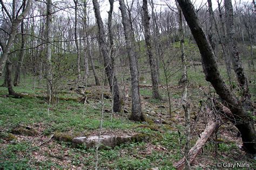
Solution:
{"label": "slender, straight, upright pale grey trunk left of the rock slab", "polygon": [[52,97],[52,67],[51,67],[51,43],[52,40],[52,1],[47,0],[46,17],[46,81],[47,81],[47,100],[50,103]]}

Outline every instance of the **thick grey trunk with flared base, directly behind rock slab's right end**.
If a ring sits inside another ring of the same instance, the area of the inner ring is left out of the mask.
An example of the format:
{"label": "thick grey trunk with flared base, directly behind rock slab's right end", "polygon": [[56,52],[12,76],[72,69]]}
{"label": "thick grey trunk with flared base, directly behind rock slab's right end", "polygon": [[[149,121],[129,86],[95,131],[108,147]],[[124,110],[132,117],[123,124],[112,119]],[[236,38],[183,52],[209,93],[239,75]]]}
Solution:
{"label": "thick grey trunk with flared base, directly behind rock slab's right end", "polygon": [[126,49],[129,56],[130,62],[130,73],[131,73],[131,86],[132,86],[132,114],[130,119],[133,121],[143,121],[144,117],[142,114],[142,107],[140,105],[139,96],[139,70],[138,70],[138,59],[133,48],[133,38],[131,27],[129,26],[129,21],[126,15],[124,0],[119,0],[120,11],[122,14],[122,23],[124,26],[124,35]]}

